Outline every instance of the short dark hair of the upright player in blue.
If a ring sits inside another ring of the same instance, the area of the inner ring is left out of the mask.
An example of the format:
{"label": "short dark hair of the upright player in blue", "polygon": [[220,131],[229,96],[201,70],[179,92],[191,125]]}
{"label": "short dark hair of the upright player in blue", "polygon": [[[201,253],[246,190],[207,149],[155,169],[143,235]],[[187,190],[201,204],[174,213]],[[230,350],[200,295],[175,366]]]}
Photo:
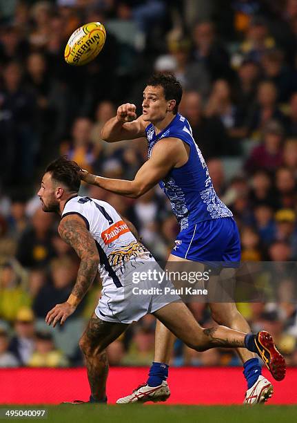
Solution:
{"label": "short dark hair of the upright player in blue", "polygon": [[183,95],[183,88],[181,83],[176,79],[173,73],[154,73],[152,77],[147,81],[148,86],[162,86],[164,90],[165,100],[175,100],[176,106],[173,109],[173,113],[176,115],[178,112],[178,105],[181,102]]}

